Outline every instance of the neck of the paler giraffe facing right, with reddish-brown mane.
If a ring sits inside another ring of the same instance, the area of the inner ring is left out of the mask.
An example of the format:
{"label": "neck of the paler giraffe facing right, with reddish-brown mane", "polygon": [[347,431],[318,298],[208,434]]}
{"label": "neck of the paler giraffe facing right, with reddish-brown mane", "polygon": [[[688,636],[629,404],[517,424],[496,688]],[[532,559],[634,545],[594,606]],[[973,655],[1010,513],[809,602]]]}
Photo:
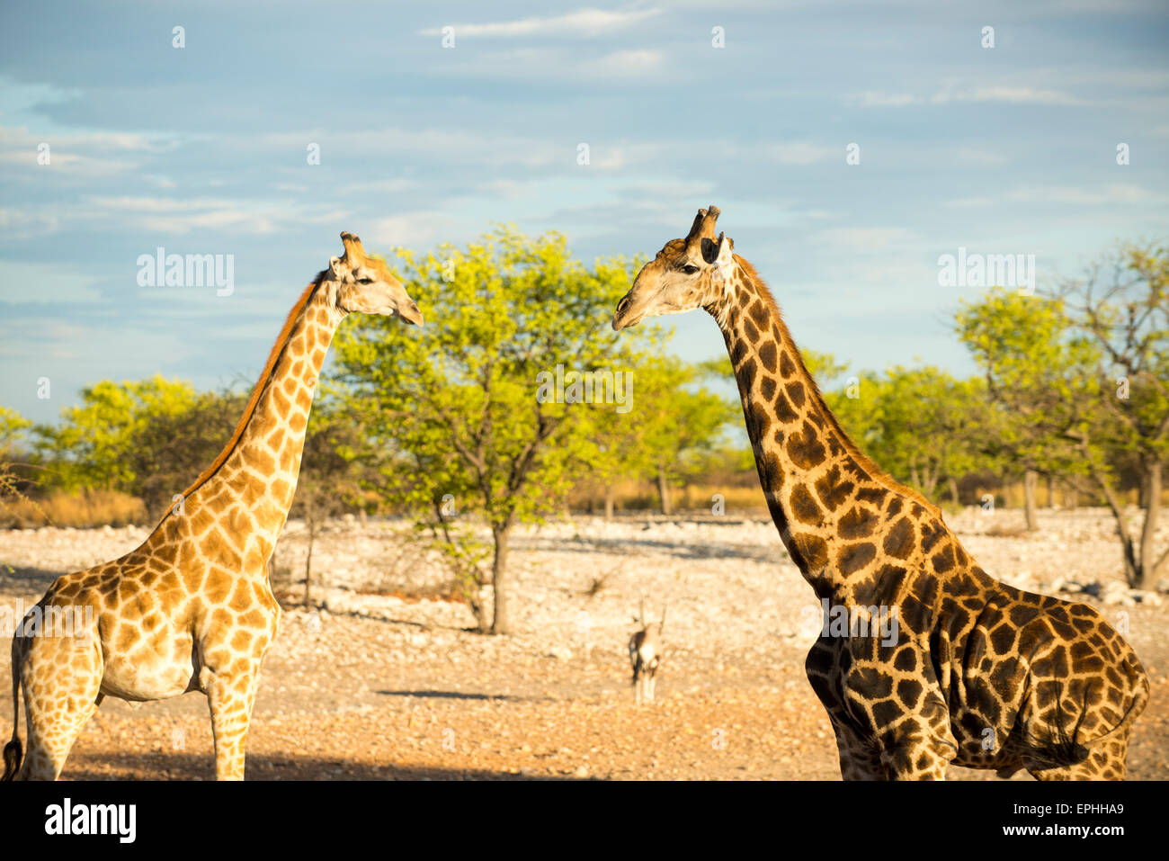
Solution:
{"label": "neck of the paler giraffe facing right, with reddish-brown mane", "polygon": [[[321,274],[324,275],[324,274]],[[288,519],[317,379],[344,312],[318,277],[292,309],[235,434],[152,538],[263,577]]]}

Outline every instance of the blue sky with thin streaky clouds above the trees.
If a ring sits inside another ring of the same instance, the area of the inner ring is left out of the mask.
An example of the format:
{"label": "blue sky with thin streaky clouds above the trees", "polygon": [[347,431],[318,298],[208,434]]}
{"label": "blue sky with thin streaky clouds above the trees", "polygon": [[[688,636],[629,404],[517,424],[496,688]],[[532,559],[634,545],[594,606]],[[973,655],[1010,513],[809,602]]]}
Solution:
{"label": "blue sky with thin streaky clouds above the trees", "polygon": [[[1042,288],[1169,236],[1163,0],[6,4],[0,47],[0,404],[39,421],[103,378],[250,385],[341,230],[592,261],[713,202],[801,345],[955,373],[981,290],[940,255],[1035,254]],[[159,246],[233,254],[234,294],[139,287]]]}

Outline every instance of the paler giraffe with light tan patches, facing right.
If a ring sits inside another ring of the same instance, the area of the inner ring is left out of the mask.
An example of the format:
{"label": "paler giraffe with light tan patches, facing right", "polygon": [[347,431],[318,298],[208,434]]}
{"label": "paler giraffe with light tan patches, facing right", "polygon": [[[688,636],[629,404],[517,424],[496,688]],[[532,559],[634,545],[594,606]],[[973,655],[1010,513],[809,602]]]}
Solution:
{"label": "paler giraffe with light tan patches, facing right", "polygon": [[[261,664],[281,608],[267,578],[296,491],[309,411],[325,353],[352,311],[422,324],[419,308],[361,242],[341,234],[268,357],[230,441],[154,531],[120,559],[57,578],[12,645],[13,738],[6,780],[55,779],[102,698],[207,695],[215,777],[242,779]],[[89,608],[75,636],[34,627],[53,607]],[[30,634],[30,635],[25,635]],[[21,765],[20,693],[28,755]]]}

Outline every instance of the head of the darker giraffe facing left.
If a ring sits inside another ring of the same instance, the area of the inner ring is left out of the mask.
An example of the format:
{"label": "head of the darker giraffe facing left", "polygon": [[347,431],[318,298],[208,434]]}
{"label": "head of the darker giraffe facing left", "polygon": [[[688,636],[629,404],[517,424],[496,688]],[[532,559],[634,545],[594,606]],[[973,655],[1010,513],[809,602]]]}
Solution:
{"label": "head of the darker giraffe facing left", "polygon": [[645,317],[683,314],[717,305],[731,289],[734,241],[719,234],[714,222],[719,208],[699,209],[685,239],[672,239],[642,267],[613,315],[615,330],[636,325]]}

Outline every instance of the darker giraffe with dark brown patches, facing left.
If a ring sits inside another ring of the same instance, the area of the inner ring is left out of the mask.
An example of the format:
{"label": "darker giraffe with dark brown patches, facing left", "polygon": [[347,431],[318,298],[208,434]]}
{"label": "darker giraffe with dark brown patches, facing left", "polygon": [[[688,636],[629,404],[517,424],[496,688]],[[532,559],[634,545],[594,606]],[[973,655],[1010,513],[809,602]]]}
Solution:
{"label": "darker giraffe with dark brown patches, facing left", "polygon": [[[762,278],[715,239],[718,215],[700,209],[690,234],[645,264],[613,328],[694,308],[715,318],[783,544],[825,615],[872,620],[825,626],[808,655],[841,773],[940,779],[955,763],[1040,780],[1123,778],[1149,696],[1133,649],[1094,608],[991,578],[935,505],[857,449]],[[881,612],[894,636],[878,629]]]}

